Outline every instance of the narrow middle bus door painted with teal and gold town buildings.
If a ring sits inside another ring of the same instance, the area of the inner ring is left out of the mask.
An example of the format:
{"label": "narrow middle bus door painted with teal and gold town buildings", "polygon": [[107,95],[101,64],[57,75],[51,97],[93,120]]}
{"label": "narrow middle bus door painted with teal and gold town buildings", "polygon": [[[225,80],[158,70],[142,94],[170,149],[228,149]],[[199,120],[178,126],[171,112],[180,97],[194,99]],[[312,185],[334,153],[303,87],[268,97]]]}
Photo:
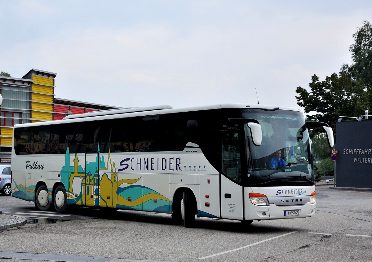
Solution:
{"label": "narrow middle bus door painted with teal and gold town buildings", "polygon": [[100,206],[99,197],[99,153],[85,154],[85,205]]}

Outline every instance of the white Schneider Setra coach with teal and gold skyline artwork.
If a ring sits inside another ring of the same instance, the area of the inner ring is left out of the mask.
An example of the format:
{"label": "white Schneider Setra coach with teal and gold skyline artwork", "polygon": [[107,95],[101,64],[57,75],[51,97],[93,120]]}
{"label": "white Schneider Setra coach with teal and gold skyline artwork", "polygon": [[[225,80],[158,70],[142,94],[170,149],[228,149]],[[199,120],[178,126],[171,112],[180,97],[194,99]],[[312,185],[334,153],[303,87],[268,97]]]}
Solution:
{"label": "white Schneider Setra coach with teal and gold skyline artwork", "polygon": [[[39,210],[68,205],[253,220],[311,217],[308,128],[287,107],[221,104],[112,109],[17,124],[12,196]],[[300,159],[307,161],[299,161]]]}

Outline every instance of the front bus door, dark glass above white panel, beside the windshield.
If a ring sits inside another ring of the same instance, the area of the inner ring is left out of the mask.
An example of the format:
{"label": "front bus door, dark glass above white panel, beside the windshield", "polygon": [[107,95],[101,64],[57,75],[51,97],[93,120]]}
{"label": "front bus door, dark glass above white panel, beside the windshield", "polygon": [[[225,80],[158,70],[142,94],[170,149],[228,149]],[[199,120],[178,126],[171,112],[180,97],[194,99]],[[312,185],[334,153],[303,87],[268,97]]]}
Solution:
{"label": "front bus door, dark glass above white panel, beside the windshield", "polygon": [[221,218],[243,220],[239,133],[222,132]]}

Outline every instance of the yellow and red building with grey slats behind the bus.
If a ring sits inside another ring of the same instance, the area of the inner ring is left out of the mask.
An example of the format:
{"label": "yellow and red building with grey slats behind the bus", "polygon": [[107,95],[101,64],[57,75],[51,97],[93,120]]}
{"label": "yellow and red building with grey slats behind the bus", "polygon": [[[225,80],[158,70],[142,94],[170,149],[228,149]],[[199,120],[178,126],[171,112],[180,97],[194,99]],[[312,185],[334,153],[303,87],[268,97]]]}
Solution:
{"label": "yellow and red building with grey slats behind the bus", "polygon": [[15,124],[59,120],[66,115],[118,108],[55,98],[56,73],[31,69],[22,78],[0,76],[0,163],[11,163]]}

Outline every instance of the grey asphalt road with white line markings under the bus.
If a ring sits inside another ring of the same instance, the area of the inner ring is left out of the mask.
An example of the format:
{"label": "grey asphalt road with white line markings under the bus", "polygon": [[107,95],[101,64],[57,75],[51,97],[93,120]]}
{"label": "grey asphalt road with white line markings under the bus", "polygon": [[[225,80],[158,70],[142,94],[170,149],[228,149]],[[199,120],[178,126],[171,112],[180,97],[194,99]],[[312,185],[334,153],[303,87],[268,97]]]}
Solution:
{"label": "grey asphalt road with white line markings under the bus", "polygon": [[[167,214],[74,211],[68,221],[0,232],[0,262],[372,261],[372,192],[329,185],[316,190],[314,217],[254,221],[246,228],[237,221],[196,218],[189,229],[173,225]],[[0,196],[3,212],[36,211],[19,199],[6,207],[6,199]]]}

